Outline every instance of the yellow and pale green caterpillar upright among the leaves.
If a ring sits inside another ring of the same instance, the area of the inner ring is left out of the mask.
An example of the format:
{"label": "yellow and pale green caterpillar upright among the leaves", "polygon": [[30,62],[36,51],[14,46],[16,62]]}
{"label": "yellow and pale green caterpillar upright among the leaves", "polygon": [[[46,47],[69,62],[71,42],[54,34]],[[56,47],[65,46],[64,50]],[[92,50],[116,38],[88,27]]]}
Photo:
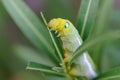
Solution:
{"label": "yellow and pale green caterpillar upright among the leaves", "polygon": [[[55,31],[55,33],[58,33],[57,37],[60,37],[64,49],[64,62],[69,62],[70,56],[83,43],[77,29],[69,20],[62,18],[54,18],[50,20],[48,27]],[[97,76],[94,63],[87,51],[79,57],[74,68],[71,68],[69,72],[72,75],[85,76],[88,79],[92,79]]]}

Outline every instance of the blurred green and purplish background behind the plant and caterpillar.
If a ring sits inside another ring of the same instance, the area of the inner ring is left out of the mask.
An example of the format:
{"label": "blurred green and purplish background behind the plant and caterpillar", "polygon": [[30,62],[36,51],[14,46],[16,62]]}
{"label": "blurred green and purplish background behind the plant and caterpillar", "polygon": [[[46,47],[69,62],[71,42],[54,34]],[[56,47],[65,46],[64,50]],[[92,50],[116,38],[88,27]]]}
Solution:
{"label": "blurred green and purplish background behind the plant and caterpillar", "polygon": [[[42,11],[47,20],[61,17],[69,19],[73,24],[76,23],[77,13],[81,2],[80,0],[24,1],[39,18],[41,18],[39,12]],[[120,29],[120,0],[114,0],[107,29]],[[18,47],[16,44],[24,44],[28,50],[35,50],[35,52],[30,53],[39,55],[39,53],[37,53],[38,50],[16,27],[16,24],[8,15],[0,1],[0,80],[44,80],[40,72],[28,71],[25,69],[27,59],[31,59],[31,56],[36,55],[17,54],[16,50],[13,49],[13,47]],[[20,48],[24,50],[24,47],[21,45]],[[101,59],[101,63],[98,64],[102,64],[102,71],[120,65],[120,40],[103,45],[101,52],[103,54],[103,59]]]}

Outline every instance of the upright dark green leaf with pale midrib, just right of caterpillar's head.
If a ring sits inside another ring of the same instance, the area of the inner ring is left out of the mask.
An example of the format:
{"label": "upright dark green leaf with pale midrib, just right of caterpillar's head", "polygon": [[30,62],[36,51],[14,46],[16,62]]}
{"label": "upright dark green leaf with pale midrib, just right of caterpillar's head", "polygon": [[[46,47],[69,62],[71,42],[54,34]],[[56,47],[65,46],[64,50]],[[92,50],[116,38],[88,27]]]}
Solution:
{"label": "upright dark green leaf with pale midrib, just right of caterpillar's head", "polygon": [[83,40],[88,37],[91,26],[95,20],[99,1],[100,0],[82,0],[81,2],[77,19],[77,29]]}

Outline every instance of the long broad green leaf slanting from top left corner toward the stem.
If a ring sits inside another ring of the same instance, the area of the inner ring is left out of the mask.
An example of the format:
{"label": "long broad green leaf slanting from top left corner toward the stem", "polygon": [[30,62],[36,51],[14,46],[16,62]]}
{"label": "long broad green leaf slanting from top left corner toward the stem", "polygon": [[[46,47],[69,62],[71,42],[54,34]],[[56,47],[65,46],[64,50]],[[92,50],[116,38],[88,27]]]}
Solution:
{"label": "long broad green leaf slanting from top left corner toward the stem", "polygon": [[57,58],[49,33],[38,17],[26,6],[23,0],[2,0],[7,11],[19,29],[40,50]]}

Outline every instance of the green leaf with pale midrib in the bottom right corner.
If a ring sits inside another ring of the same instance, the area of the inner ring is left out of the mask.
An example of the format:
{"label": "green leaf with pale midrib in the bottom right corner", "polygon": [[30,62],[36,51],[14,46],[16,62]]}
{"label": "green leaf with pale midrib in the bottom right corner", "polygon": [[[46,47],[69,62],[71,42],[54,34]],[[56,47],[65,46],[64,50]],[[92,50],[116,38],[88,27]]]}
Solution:
{"label": "green leaf with pale midrib in the bottom right corner", "polygon": [[120,67],[100,74],[96,80],[120,80]]}

